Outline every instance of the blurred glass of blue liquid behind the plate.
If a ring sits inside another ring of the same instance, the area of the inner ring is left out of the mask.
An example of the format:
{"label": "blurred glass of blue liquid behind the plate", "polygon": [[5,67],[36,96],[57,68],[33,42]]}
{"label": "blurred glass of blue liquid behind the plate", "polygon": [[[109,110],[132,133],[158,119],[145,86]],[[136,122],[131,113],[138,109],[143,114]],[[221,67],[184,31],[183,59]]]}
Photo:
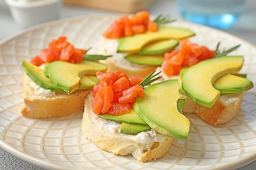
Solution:
{"label": "blurred glass of blue liquid behind the plate", "polygon": [[184,20],[228,29],[234,25],[245,9],[245,0],[177,0]]}

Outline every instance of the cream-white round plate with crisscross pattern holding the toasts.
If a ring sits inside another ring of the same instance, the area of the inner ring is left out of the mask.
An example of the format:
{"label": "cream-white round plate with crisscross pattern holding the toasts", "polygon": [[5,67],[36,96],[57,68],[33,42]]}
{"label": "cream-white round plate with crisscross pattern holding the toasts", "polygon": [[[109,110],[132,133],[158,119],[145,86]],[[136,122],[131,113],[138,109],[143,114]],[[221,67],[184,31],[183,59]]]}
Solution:
{"label": "cream-white round plate with crisscross pattern holding the toasts", "polygon": [[[29,61],[41,48],[59,36],[77,48],[95,47],[101,33],[117,16],[86,16],[58,20],[28,29],[0,45],[0,144],[5,150],[36,165],[51,169],[234,169],[256,160],[256,88],[245,92],[241,110],[228,124],[212,126],[198,116],[186,140],[175,140],[167,154],[156,161],[140,163],[131,156],[114,156],[100,150],[81,133],[81,114],[62,118],[30,119],[20,114],[22,60]],[[222,31],[177,21],[171,25],[196,32],[191,41],[215,49],[236,44],[232,54],[244,56],[242,73],[256,84],[256,48]],[[230,82],[232,83],[232,82]]]}

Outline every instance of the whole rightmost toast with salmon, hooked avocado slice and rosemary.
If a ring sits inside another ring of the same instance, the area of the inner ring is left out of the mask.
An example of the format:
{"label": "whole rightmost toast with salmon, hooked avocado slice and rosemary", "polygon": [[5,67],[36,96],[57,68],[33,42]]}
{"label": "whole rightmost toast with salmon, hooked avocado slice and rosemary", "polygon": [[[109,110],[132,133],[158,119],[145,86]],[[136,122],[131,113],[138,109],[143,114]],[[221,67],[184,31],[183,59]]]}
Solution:
{"label": "whole rightmost toast with salmon, hooked avocado slice and rosemary", "polygon": [[246,75],[238,73],[243,56],[226,56],[240,45],[221,52],[184,39],[179,49],[167,52],[158,68],[163,80],[179,76],[186,99],[184,113],[195,113],[206,122],[225,124],[240,111],[244,92],[253,88]]}

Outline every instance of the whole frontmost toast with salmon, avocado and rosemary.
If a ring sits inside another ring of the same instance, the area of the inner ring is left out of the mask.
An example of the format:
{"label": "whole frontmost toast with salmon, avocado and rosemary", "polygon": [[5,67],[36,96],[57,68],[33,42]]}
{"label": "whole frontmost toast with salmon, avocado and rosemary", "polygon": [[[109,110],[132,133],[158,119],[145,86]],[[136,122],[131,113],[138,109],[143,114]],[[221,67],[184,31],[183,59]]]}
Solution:
{"label": "whole frontmost toast with salmon, avocado and rosemary", "polygon": [[122,71],[96,73],[100,82],[85,99],[81,124],[85,137],[102,150],[142,162],[164,156],[175,138],[185,139],[190,120],[177,110],[179,82],[167,80],[144,88],[156,80],[157,74],[152,74],[138,84]]}

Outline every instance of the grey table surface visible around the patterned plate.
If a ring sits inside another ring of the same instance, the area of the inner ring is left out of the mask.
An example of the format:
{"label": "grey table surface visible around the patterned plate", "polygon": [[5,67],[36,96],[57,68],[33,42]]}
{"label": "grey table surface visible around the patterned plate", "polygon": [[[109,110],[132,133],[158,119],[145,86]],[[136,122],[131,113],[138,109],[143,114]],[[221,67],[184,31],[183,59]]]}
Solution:
{"label": "grey table surface visible around the patterned plate", "polygon": [[[177,13],[175,0],[158,0],[147,9],[150,14],[170,14],[173,18],[181,18]],[[68,18],[73,16],[83,16],[87,14],[115,14],[116,12],[88,9],[83,7],[75,7],[64,5],[60,18]],[[247,0],[244,14],[236,25],[226,30],[226,32],[240,37],[245,41],[256,45],[256,1]],[[23,29],[16,25],[12,20],[11,13],[4,0],[0,0],[0,41],[19,33]],[[16,156],[13,156],[3,148],[0,148],[0,169],[42,169],[36,165],[32,165]],[[239,170],[256,169],[256,161],[241,167]]]}

